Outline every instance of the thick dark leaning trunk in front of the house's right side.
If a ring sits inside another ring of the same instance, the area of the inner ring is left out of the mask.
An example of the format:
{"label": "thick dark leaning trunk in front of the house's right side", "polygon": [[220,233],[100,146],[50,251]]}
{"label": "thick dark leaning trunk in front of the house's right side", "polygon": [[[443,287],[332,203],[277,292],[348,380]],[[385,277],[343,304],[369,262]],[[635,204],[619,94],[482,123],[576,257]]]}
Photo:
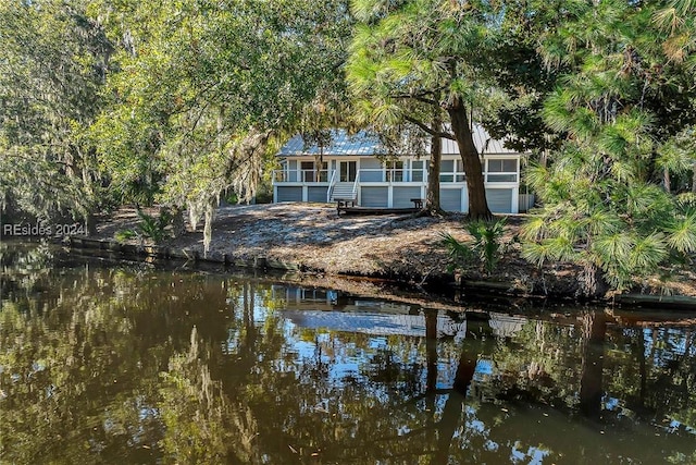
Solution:
{"label": "thick dark leaning trunk in front of the house's right side", "polygon": [[493,215],[486,200],[481,158],[471,134],[467,109],[461,99],[455,98],[455,101],[447,106],[447,112],[452,123],[452,132],[455,133],[457,146],[461,154],[461,161],[464,164],[464,173],[467,174],[469,218],[472,220],[490,220]]}

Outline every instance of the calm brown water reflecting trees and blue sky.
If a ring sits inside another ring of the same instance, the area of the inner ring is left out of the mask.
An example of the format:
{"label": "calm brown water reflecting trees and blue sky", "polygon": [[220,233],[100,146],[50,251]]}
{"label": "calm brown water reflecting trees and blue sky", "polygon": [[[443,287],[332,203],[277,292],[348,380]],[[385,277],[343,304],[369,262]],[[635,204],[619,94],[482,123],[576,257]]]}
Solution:
{"label": "calm brown water reflecting trees and blue sky", "polygon": [[694,326],[0,255],[2,464],[696,463]]}

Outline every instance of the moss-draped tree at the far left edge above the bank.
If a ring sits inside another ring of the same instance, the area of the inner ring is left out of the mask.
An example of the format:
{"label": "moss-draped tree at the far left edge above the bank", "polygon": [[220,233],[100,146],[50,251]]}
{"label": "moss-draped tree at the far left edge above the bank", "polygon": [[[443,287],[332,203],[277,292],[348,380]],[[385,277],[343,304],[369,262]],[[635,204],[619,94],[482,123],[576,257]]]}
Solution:
{"label": "moss-draped tree at the far left edge above the bank", "polygon": [[86,1],[0,5],[0,198],[42,220],[87,220],[103,203],[85,137],[112,45]]}

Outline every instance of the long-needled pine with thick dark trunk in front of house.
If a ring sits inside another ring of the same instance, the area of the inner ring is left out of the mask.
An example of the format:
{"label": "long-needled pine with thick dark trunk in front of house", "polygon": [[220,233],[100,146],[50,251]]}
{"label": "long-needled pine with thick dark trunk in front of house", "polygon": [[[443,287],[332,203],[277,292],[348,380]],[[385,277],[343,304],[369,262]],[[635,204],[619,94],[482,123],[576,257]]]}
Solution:
{"label": "long-needled pine with thick dark trunk in front of house", "polygon": [[[435,142],[456,140],[469,216],[490,218],[469,111],[477,90],[488,87],[483,65],[494,21],[488,4],[357,0],[352,7],[360,23],[347,72],[358,111],[378,126],[408,121]],[[443,120],[451,131],[439,127]]]}

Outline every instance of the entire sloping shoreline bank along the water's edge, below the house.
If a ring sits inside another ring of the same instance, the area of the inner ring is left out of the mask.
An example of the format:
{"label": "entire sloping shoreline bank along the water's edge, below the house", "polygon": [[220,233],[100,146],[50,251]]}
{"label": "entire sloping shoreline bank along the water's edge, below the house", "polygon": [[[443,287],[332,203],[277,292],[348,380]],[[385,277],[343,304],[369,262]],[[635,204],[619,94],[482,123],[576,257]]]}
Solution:
{"label": "entire sloping shoreline bank along the water's edge, below the house", "polygon": [[[556,264],[539,270],[519,257],[514,235],[523,221],[521,216],[509,217],[504,241],[509,242],[510,247],[496,272],[486,276],[471,267],[461,276],[448,273],[447,253],[438,244],[438,234],[448,232],[465,240],[462,219],[461,216],[444,219],[397,215],[338,217],[335,208],[325,204],[222,207],[213,222],[210,252],[204,254],[200,231],[189,231],[162,245],[114,240],[116,231],[137,223],[133,211],[122,209],[100,222],[94,236],[67,236],[63,243],[145,261],[184,260],[225,268],[377,279],[412,289],[586,303],[575,298],[576,267]],[[625,293],[589,303],[696,311],[696,280],[683,277],[683,282],[684,285],[678,287],[683,292],[672,295],[651,290],[651,293]]]}

